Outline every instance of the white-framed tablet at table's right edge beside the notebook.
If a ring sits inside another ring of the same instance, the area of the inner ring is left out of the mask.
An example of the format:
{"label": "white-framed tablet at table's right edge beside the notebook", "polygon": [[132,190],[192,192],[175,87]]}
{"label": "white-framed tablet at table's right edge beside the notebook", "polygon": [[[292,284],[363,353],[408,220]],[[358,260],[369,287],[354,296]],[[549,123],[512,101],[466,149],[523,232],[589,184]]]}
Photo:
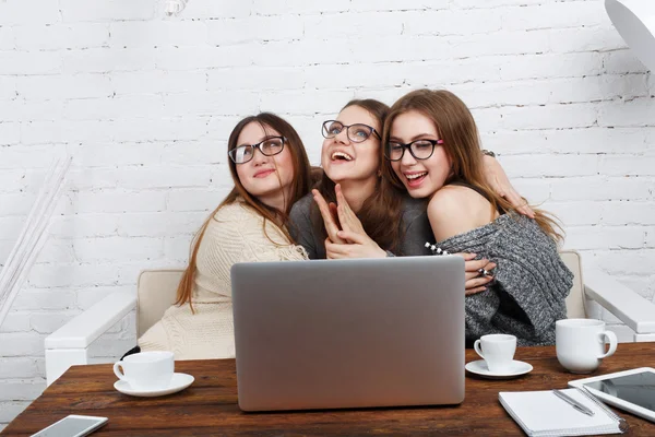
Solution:
{"label": "white-framed tablet at table's right edge beside the notebook", "polygon": [[587,389],[603,402],[655,422],[655,369],[652,367],[577,379],[569,386]]}

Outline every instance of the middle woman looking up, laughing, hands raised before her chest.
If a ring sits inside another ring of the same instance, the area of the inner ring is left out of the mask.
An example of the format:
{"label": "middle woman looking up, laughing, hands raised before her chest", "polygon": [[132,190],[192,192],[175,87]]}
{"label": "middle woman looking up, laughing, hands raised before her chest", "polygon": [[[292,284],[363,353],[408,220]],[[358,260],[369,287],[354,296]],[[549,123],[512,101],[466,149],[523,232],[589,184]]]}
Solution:
{"label": "middle woman looking up, laughing, hands raised before her chest", "polygon": [[[289,231],[310,259],[374,258],[430,255],[431,237],[426,201],[413,199],[382,175],[381,130],[389,107],[374,99],[349,102],[335,120],[323,123],[323,177],[311,194],[291,210]],[[520,199],[502,168],[490,158],[490,179],[511,199]],[[522,206],[527,214],[532,213]],[[480,269],[495,264],[466,260],[467,292],[484,290],[492,280]]]}

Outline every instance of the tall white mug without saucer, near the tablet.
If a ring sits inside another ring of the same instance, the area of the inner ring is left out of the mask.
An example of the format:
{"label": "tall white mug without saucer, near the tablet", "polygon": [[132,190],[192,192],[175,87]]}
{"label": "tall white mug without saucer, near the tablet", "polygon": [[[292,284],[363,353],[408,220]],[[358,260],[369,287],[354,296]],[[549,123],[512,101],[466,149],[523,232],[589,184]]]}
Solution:
{"label": "tall white mug without saucer, near the tablet", "polygon": [[[605,352],[605,339],[609,350]],[[573,374],[588,374],[617,350],[617,335],[596,319],[563,319],[555,323],[557,359]]]}

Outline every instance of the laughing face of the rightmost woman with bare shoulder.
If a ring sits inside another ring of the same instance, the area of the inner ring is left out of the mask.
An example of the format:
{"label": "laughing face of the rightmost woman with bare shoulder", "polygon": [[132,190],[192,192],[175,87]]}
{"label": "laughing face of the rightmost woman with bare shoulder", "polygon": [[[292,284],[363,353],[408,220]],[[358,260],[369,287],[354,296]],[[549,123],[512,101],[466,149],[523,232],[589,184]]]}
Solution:
{"label": "laughing face of the rightmost woman with bare shoulder", "polygon": [[[407,144],[416,140],[440,140],[434,122],[416,110],[396,116],[391,125],[390,141]],[[443,187],[452,167],[440,145],[427,160],[416,160],[405,150],[403,158],[392,162],[391,166],[409,196],[417,199],[428,198]]]}

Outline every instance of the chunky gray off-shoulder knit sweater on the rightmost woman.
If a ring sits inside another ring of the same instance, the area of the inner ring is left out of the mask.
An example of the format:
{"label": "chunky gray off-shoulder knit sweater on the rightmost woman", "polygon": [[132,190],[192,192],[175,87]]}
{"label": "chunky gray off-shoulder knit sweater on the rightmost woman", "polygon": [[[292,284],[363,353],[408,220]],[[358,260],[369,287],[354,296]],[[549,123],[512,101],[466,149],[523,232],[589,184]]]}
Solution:
{"label": "chunky gray off-shoulder knit sweater on the rightmost woman", "polygon": [[486,292],[466,296],[466,343],[489,333],[516,335],[521,346],[555,344],[555,322],[567,318],[573,273],[534,220],[509,213],[437,246],[497,263]]}

